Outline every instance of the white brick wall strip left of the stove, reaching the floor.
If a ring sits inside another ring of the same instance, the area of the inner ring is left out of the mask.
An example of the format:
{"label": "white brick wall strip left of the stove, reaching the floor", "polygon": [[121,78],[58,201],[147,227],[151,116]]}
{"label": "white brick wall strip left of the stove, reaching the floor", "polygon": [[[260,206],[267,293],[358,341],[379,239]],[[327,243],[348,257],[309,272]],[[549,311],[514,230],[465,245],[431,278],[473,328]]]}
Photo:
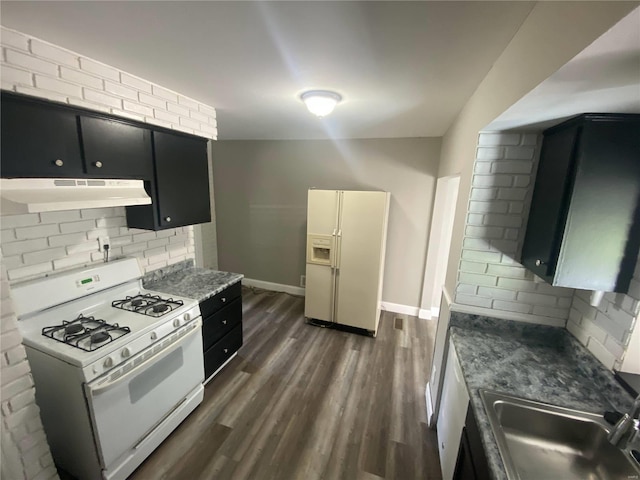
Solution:
{"label": "white brick wall strip left of the stove, reaching the floor", "polygon": [[22,337],[18,332],[9,284],[1,267],[2,478],[58,478],[35,403],[35,389]]}

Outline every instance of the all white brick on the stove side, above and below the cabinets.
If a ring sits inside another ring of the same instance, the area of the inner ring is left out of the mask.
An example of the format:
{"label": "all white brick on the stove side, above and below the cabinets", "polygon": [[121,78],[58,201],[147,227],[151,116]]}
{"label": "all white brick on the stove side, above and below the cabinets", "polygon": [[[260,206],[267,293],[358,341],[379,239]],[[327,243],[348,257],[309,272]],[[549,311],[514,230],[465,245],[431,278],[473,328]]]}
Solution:
{"label": "all white brick on the stove side, above and below the cabinets", "polygon": [[[3,90],[216,138],[215,110],[207,105],[4,27],[0,43]],[[0,218],[2,478],[57,477],[7,300],[10,284],[101,261],[98,237],[103,236],[110,237],[111,258],[135,256],[145,273],[195,257],[193,227],[160,232],[129,229],[123,207]]]}

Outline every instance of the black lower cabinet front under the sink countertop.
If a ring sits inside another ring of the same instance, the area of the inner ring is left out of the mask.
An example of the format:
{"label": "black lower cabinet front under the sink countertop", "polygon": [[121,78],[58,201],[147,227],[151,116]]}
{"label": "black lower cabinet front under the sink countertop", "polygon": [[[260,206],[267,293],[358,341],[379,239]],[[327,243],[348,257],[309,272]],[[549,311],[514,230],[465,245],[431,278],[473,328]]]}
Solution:
{"label": "black lower cabinet front under the sink countertop", "polygon": [[489,480],[491,478],[487,457],[480,440],[480,431],[471,406],[467,409],[453,478],[454,480]]}

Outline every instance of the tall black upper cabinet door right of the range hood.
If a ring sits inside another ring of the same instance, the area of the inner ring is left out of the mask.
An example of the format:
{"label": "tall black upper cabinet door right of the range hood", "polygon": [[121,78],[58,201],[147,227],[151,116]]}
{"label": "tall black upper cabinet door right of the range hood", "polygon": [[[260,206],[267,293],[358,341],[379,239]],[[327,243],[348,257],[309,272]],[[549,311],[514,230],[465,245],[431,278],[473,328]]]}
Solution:
{"label": "tall black upper cabinet door right of the range hood", "polygon": [[211,221],[207,141],[153,132],[160,228]]}

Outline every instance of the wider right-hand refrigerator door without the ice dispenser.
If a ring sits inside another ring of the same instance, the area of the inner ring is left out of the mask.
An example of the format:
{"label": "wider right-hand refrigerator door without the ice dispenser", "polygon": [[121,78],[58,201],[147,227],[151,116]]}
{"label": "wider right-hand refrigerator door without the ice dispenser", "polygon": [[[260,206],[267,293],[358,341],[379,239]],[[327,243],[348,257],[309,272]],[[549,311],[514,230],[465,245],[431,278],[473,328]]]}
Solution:
{"label": "wider right-hand refrigerator door without the ice dispenser", "polygon": [[387,192],[343,192],[337,241],[337,323],[376,331],[387,233]]}

